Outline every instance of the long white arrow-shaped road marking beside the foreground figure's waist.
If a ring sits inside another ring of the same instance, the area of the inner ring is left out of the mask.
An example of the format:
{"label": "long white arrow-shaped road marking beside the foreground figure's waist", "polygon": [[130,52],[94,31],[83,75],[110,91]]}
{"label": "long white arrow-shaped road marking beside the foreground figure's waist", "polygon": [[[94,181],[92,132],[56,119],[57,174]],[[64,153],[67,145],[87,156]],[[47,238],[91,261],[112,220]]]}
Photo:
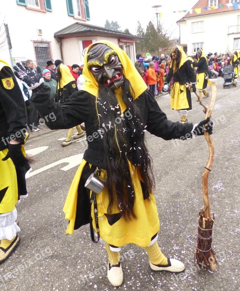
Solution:
{"label": "long white arrow-shaped road marking beside the foreground figure's waist", "polygon": [[67,158],[64,158],[62,160],[59,160],[57,162],[53,162],[45,167],[42,167],[36,171],[33,171],[29,174],[28,178],[32,177],[32,176],[35,176],[39,173],[42,173],[56,165],[59,165],[61,163],[68,163],[68,165],[64,166],[63,168],[61,168],[60,170],[63,170],[63,171],[67,171],[73,167],[76,167],[77,165],[80,164],[80,162],[82,161],[82,158],[83,158],[83,154],[78,154],[78,155],[74,155],[74,156],[71,156],[71,157],[67,157]]}

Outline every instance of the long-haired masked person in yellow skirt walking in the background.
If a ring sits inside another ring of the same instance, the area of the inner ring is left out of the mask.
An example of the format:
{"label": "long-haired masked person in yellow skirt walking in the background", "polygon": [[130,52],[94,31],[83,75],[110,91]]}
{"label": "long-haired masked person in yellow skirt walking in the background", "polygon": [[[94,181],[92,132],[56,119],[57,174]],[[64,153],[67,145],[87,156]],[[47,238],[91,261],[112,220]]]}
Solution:
{"label": "long-haired masked person in yellow skirt walking in the background", "polygon": [[164,84],[173,78],[171,87],[171,109],[176,110],[180,116],[180,123],[188,121],[189,110],[192,110],[191,92],[186,87],[186,83],[192,83],[192,90],[196,92],[196,77],[192,67],[192,62],[187,58],[186,53],[180,46],[171,49],[171,64],[169,74]]}

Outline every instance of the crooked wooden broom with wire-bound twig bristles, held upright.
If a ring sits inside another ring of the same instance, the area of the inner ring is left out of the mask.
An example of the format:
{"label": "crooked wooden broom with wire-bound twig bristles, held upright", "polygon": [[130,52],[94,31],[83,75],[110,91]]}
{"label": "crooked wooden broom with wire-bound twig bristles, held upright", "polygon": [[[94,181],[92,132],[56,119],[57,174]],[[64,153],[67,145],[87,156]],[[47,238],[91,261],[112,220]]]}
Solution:
{"label": "crooked wooden broom with wire-bound twig bristles, held upright", "polygon": [[[213,111],[214,103],[216,100],[216,83],[211,82],[211,99],[210,104],[205,115],[205,119],[210,117]],[[208,126],[205,125],[205,126]],[[215,252],[212,249],[212,228],[213,223],[215,221],[214,214],[211,217],[210,214],[210,204],[208,197],[208,175],[211,171],[211,167],[214,161],[214,143],[207,131],[204,131],[204,136],[208,144],[208,161],[205,165],[202,181],[203,181],[203,203],[204,209],[201,209],[199,212],[199,220],[198,220],[198,237],[197,237],[197,249],[195,253],[195,260],[199,265],[208,266],[210,269],[215,270],[217,267],[217,260],[215,256]]]}

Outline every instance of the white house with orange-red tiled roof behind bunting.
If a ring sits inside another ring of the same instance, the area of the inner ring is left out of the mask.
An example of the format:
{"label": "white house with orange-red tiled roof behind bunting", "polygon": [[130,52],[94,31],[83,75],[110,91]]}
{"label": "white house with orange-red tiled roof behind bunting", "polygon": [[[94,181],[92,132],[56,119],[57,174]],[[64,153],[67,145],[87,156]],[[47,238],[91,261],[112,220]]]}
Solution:
{"label": "white house with orange-red tiled roof behind bunting", "polygon": [[[180,44],[188,55],[240,50],[240,10],[237,0],[199,0],[177,21]],[[195,10],[196,9],[196,10]]]}

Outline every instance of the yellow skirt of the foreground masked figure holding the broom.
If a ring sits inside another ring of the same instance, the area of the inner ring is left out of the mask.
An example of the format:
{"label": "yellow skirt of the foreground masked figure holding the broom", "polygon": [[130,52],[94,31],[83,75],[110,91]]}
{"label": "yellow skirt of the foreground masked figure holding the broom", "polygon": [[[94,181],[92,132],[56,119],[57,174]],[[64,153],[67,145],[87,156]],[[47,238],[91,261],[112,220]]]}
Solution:
{"label": "yellow skirt of the foreground masked figure holding the broom", "polygon": [[[83,160],[80,167],[73,179],[72,185],[69,189],[65,205],[65,219],[69,220],[69,225],[67,227],[66,233],[74,233],[74,223],[75,218],[78,213],[77,210],[77,198],[78,198],[78,186],[81,177],[82,170],[87,162]],[[130,173],[132,173],[132,181],[135,190],[135,204],[134,213],[137,219],[132,219],[126,222],[122,217],[115,222],[113,225],[108,223],[105,213],[107,213],[108,208],[108,195],[106,190],[100,194],[96,194],[97,210],[98,210],[98,224],[100,237],[105,242],[112,244],[117,247],[121,247],[128,243],[134,243],[139,246],[148,246],[151,242],[151,238],[158,233],[160,229],[160,222],[158,217],[157,205],[155,202],[155,197],[150,194],[150,199],[143,198],[142,187],[140,183],[140,175],[135,166],[129,162]],[[101,176],[105,171],[101,171]],[[119,213],[116,203],[113,204],[112,214]],[[94,219],[94,205],[92,204],[91,216],[93,218],[93,227],[96,231],[96,224]]]}

